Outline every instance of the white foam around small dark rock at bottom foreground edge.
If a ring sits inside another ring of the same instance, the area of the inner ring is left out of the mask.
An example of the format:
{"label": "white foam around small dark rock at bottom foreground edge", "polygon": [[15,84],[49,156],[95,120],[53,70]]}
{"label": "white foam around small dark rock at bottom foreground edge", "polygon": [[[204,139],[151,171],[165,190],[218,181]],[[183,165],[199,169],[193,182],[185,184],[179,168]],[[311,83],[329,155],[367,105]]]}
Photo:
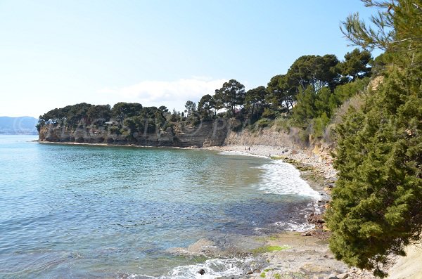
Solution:
{"label": "white foam around small dark rock at bottom foreground edge", "polygon": [[[248,259],[207,259],[203,264],[191,264],[189,266],[177,266],[170,271],[169,275],[162,276],[162,279],[212,279],[223,276],[240,275],[243,273],[243,266],[252,261]],[[198,271],[203,269],[204,275]]]}

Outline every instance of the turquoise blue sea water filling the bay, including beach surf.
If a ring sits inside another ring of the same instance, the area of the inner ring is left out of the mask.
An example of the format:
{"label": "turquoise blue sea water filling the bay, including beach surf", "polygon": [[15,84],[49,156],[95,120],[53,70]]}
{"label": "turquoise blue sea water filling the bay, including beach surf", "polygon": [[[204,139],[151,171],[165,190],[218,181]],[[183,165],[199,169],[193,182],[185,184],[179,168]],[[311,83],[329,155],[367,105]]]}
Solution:
{"label": "turquoise blue sea water filling the bay, including beach surf", "polygon": [[205,259],[167,249],[291,230],[318,195],[263,157],[34,139],[0,136],[0,278],[171,277]]}

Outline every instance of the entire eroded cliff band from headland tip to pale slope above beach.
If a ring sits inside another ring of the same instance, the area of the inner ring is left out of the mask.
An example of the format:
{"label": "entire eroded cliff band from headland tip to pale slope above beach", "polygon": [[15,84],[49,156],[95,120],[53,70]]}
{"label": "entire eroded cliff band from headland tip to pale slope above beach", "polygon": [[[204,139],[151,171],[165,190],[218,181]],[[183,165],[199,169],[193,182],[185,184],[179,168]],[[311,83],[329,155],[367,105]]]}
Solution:
{"label": "entire eroded cliff band from headland tip to pale slope above beach", "polygon": [[232,123],[225,119],[203,121],[193,126],[180,122],[166,129],[155,129],[153,132],[131,133],[122,126],[118,132],[110,126],[79,125],[75,128],[49,124],[39,131],[39,141],[61,143],[107,143],[114,145],[144,145],[167,147],[197,147],[205,148],[221,145],[267,145],[274,148],[300,150],[302,153],[314,155],[321,160],[331,160],[332,147],[322,141],[307,141],[304,143],[298,137],[295,128],[286,131],[276,131],[271,128],[251,132],[248,129],[232,131]]}

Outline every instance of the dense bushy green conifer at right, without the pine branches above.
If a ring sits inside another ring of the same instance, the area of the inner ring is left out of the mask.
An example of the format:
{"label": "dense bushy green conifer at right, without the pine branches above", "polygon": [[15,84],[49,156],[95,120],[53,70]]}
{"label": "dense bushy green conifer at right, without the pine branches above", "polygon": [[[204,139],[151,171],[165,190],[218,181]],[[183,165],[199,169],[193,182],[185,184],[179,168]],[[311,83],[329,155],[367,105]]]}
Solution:
{"label": "dense bushy green conifer at right, without the pine branches above", "polygon": [[339,125],[340,175],[328,226],[331,249],[347,264],[378,268],[421,233],[421,73],[390,73],[378,94]]}

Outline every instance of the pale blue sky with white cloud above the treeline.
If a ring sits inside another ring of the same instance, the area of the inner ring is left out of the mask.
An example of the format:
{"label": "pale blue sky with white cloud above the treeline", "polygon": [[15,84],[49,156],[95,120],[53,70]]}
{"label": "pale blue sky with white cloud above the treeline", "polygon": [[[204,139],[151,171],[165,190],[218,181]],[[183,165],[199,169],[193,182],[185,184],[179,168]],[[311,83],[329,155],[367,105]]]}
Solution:
{"label": "pale blue sky with white cloud above the treeline", "polygon": [[[0,116],[75,103],[183,110],[229,79],[266,86],[303,55],[354,47],[358,0],[0,0]],[[374,53],[375,55],[375,53]]]}

